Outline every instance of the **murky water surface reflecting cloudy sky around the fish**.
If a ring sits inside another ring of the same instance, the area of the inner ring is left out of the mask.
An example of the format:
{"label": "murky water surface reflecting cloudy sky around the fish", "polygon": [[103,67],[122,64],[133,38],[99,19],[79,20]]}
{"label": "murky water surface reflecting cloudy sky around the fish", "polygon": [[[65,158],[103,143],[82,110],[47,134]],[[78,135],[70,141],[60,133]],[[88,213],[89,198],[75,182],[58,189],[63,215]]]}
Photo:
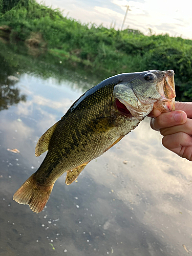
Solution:
{"label": "murky water surface reflecting cloudy sky around the fish", "polygon": [[[192,253],[192,165],[161,145],[149,118],[90,162],[78,182],[67,186],[60,177],[39,214],[14,202],[45,157],[35,157],[38,138],[86,89],[72,72],[58,80],[25,70],[6,73],[7,60],[1,63],[1,256]],[[20,153],[9,151],[15,148]]]}

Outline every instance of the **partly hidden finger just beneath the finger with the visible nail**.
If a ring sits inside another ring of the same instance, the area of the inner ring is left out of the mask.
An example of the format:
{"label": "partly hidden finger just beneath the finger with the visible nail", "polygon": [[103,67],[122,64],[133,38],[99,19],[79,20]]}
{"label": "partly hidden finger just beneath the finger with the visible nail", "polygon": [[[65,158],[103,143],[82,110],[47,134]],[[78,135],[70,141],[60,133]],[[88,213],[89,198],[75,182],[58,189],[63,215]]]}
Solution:
{"label": "partly hidden finger just beneath the finger with the visible nail", "polygon": [[189,135],[192,135],[192,119],[187,118],[187,121],[181,125],[175,125],[172,127],[167,127],[160,129],[160,133],[163,136],[183,132]]}

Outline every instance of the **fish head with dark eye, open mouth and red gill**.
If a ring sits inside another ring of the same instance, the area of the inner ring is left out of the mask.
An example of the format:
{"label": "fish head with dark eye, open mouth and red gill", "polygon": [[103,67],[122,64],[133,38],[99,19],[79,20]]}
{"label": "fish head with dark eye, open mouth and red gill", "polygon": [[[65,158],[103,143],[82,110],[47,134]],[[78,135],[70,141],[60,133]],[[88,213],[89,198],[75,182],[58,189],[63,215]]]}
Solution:
{"label": "fish head with dark eye, open mouth and red gill", "polygon": [[113,91],[116,110],[127,117],[144,117],[153,108],[174,111],[175,97],[173,70],[122,74]]}

